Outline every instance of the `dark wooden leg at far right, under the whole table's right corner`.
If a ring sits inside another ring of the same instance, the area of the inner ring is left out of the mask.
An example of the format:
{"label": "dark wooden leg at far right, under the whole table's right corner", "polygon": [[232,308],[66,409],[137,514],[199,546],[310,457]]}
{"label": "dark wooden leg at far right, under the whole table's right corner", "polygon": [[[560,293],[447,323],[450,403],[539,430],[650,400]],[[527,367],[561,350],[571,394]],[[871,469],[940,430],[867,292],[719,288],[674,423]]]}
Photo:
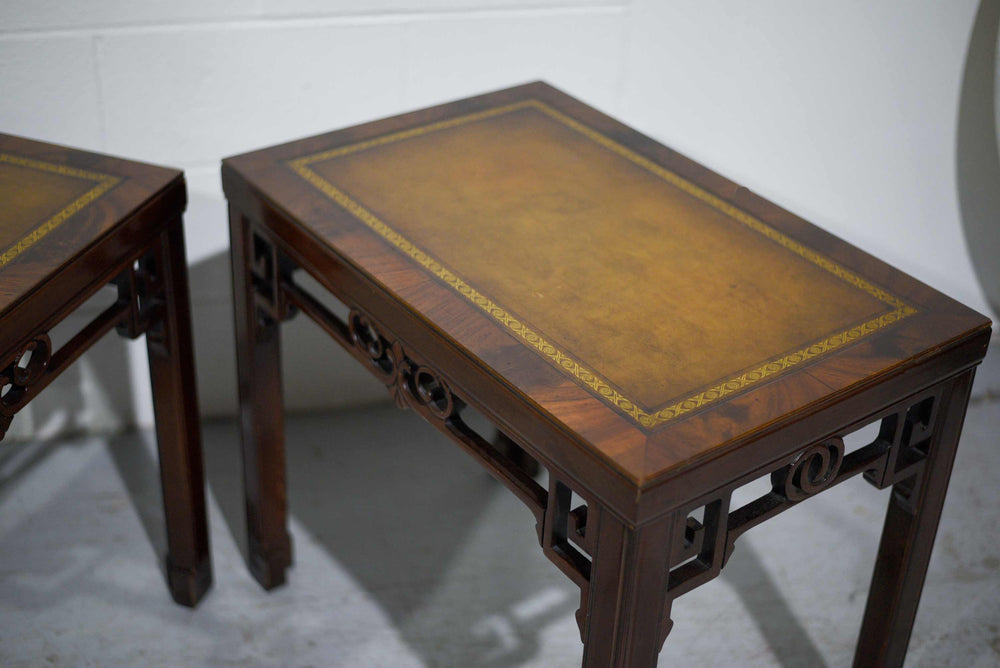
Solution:
{"label": "dark wooden leg at far right, under the whole table's right corner", "polygon": [[854,665],[902,666],[944,505],[974,371],[950,381],[918,475],[892,488]]}

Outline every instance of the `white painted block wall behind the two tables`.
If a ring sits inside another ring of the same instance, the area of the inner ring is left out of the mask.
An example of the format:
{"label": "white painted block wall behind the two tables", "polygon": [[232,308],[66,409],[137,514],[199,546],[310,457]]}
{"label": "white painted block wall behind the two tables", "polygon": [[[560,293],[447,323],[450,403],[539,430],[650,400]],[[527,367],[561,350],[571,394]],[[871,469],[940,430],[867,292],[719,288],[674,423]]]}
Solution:
{"label": "white painted block wall behind the two tables", "polygon": [[[3,0],[0,129],[186,171],[199,391],[206,414],[224,414],[219,160],[539,78],[987,311],[955,182],[976,4]],[[384,396],[307,323],[286,344],[291,407]],[[117,345],[132,405],[104,401],[83,426],[151,420],[141,344]]]}

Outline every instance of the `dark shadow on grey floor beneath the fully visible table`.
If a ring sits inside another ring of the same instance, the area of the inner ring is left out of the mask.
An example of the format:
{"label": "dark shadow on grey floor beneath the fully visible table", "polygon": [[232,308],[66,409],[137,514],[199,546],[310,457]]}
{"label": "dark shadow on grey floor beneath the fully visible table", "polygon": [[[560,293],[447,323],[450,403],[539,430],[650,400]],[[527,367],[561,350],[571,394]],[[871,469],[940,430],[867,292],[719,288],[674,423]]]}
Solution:
{"label": "dark shadow on grey floor beneath the fully visible table", "polygon": [[[209,485],[244,545],[235,424],[206,434]],[[299,416],[288,421],[286,456],[291,520],[427,665],[467,666],[470,655],[482,668],[522,665],[541,629],[579,606],[578,590],[542,556],[528,510],[413,414],[380,406]],[[289,582],[308,586],[294,567]]]}

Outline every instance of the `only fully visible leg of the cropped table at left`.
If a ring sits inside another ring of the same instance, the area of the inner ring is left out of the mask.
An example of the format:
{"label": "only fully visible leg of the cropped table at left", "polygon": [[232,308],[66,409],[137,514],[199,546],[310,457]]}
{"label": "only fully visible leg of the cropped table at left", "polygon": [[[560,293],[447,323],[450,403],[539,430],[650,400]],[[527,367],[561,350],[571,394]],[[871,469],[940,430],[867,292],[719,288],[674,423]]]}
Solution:
{"label": "only fully visible leg of the cropped table at left", "polygon": [[175,601],[194,606],[211,586],[212,565],[180,218],[162,233],[156,256],[162,311],[146,332],[146,347],[167,524],[167,580]]}

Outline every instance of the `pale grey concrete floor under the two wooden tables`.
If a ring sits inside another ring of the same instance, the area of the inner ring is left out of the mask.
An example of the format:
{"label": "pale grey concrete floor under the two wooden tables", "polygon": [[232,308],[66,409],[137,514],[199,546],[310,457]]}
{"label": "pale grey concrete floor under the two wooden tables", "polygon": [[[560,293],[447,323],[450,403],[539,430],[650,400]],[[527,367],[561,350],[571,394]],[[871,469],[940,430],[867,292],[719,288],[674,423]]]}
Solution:
{"label": "pale grey concrete floor under the two wooden tables", "polygon": [[[1000,403],[969,412],[908,666],[1000,665]],[[580,665],[574,586],[527,510],[410,413],[294,418],[295,567],[243,565],[236,428],[205,425],[215,585],[174,605],[149,433],[0,449],[3,666]],[[853,480],[740,539],[661,666],[850,665],[886,492]]]}

